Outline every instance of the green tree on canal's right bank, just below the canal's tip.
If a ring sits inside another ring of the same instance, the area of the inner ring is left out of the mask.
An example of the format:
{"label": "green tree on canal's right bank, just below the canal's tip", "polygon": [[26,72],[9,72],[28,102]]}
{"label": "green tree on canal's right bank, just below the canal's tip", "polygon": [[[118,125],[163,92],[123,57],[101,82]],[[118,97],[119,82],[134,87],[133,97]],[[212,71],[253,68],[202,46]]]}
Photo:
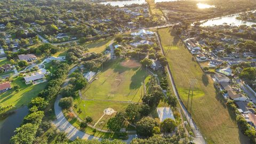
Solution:
{"label": "green tree on canal's right bank, just below the canal's tip", "polygon": [[39,125],[42,121],[42,118],[44,117],[44,111],[35,111],[34,113],[31,113],[24,117],[23,123],[31,123]]}

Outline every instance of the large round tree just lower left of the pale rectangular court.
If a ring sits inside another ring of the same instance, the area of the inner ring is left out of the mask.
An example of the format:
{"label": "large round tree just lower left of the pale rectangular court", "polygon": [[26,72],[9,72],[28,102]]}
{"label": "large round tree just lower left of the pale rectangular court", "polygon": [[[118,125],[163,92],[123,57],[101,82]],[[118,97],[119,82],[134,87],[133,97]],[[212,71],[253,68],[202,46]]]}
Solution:
{"label": "large round tree just lower left of the pale rectangular court", "polygon": [[137,132],[143,137],[151,137],[153,135],[153,129],[157,125],[155,119],[151,117],[143,117],[137,123]]}

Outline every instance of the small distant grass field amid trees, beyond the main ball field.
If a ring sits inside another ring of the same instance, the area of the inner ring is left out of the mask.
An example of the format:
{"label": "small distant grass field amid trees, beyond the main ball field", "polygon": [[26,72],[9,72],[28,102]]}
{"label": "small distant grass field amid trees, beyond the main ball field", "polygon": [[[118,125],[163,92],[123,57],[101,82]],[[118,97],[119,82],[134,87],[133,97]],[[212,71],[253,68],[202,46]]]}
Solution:
{"label": "small distant grass field amid trees, beyond the main ball field", "polygon": [[114,41],[111,41],[111,39],[99,39],[95,42],[87,42],[83,44],[84,47],[87,47],[89,49],[89,52],[96,52],[96,53],[102,53],[104,52],[109,44],[113,43]]}

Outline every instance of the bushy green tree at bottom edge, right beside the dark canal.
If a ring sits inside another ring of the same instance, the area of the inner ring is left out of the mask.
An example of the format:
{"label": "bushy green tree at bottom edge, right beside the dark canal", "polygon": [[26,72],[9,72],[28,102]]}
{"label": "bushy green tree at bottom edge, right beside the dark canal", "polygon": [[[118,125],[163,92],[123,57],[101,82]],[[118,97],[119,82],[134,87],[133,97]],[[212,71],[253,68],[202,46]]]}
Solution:
{"label": "bushy green tree at bottom edge, right beside the dark canal", "polygon": [[27,123],[18,127],[14,132],[16,133],[11,138],[11,143],[27,143],[32,144],[35,141],[37,127],[35,124]]}

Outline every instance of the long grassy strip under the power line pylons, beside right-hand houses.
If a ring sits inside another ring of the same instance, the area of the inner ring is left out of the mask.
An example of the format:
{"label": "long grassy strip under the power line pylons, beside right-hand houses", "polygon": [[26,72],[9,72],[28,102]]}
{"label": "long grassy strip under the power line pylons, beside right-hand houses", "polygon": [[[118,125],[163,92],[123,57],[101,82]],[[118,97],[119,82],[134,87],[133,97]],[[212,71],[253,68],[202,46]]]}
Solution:
{"label": "long grassy strip under the power line pylons, beside right-hand houses", "polygon": [[159,29],[158,32],[165,52],[171,40],[172,47],[167,60],[184,103],[187,103],[189,80],[197,79],[192,116],[207,143],[250,143],[239,131],[235,116],[227,109],[225,100],[215,91],[212,79],[203,73],[172,28]]}

